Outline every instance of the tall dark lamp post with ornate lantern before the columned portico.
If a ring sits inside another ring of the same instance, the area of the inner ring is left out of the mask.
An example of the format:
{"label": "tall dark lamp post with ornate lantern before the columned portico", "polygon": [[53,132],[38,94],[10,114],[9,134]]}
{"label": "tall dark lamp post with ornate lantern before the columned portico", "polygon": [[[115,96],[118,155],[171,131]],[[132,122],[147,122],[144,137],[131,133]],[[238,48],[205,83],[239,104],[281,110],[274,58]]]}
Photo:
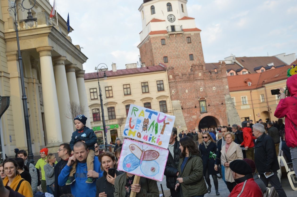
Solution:
{"label": "tall dark lamp post with ornate lantern before the columned portico", "polygon": [[[23,62],[22,62],[22,56],[20,53],[20,41],[19,41],[19,36],[18,36],[18,23],[17,23],[17,12],[20,9],[22,12],[28,10],[28,17],[27,19],[23,20],[25,21],[28,26],[32,27],[34,25],[34,21],[36,21],[36,18],[33,18],[32,12],[30,12],[30,9],[32,9],[35,4],[36,0],[34,0],[34,4],[30,8],[25,8],[23,6],[25,0],[22,0],[21,3],[17,4],[17,0],[15,0],[14,4],[7,9],[8,11],[12,11],[15,15],[15,33],[16,33],[16,38],[17,38],[17,45],[18,45],[18,61],[19,61],[19,66],[20,66],[20,81],[21,81],[21,86],[22,86],[22,100],[23,100],[23,110],[24,110],[24,118],[25,118],[25,129],[26,129],[26,137],[27,137],[27,146],[28,146],[28,161],[30,163],[34,163],[34,156],[32,153],[32,144],[31,144],[31,134],[30,134],[30,126],[29,126],[29,115],[28,115],[28,106],[27,106],[27,96],[25,92],[25,83],[24,83],[24,74],[23,74]],[[30,1],[31,5],[31,1]]]}

